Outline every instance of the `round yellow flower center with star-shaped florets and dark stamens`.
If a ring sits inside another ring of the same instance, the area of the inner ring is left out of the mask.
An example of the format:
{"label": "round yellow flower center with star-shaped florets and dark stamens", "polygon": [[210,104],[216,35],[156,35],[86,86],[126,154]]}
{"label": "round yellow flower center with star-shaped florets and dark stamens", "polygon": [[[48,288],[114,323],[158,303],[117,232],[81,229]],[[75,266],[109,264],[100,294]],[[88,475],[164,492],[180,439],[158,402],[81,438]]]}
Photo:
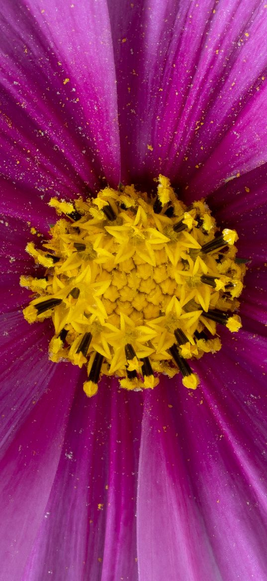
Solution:
{"label": "round yellow flower center with star-shaped florets and dark stamens", "polygon": [[50,359],[86,365],[87,396],[101,374],[140,389],[180,371],[195,389],[189,360],[220,349],[217,324],[241,327],[236,232],[219,232],[204,200],[185,207],[163,175],[156,196],[126,186],[50,206],[65,217],[26,247],[45,275],[20,280],[36,295],[25,319],[52,318]]}

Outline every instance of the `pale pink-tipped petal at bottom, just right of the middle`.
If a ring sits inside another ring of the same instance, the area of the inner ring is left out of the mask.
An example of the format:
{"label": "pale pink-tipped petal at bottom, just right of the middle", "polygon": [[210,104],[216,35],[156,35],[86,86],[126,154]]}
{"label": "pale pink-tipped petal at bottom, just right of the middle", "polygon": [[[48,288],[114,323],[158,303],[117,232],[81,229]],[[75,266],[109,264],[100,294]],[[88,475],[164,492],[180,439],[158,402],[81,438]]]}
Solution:
{"label": "pale pink-tipped petal at bottom, just right of the middle", "polygon": [[163,380],[158,392],[144,397],[137,497],[140,579],[220,579],[181,454],[179,416],[175,427],[167,385]]}

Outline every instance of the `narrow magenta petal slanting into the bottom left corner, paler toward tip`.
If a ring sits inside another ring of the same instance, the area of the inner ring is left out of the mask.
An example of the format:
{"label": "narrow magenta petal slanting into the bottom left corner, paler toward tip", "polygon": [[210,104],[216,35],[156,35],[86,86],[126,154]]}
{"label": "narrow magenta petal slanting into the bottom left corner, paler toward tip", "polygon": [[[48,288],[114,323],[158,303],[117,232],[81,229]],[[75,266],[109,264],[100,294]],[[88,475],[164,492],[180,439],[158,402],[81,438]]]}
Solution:
{"label": "narrow magenta petal slanting into the bottom left corner, paler toward tip", "polygon": [[[38,403],[32,403],[27,421],[1,461],[0,559],[5,581],[21,579],[45,514],[76,378],[75,368],[68,368],[66,373],[60,365],[55,365],[46,392]],[[36,376],[36,385],[38,379]]]}

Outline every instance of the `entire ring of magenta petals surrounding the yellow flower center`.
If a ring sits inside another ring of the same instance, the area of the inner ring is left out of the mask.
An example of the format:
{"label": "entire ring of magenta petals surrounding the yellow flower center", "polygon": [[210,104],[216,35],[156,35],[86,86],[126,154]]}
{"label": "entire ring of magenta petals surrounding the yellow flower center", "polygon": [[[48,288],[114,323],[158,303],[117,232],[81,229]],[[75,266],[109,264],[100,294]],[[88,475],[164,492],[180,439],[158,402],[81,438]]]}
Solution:
{"label": "entire ring of magenta petals surrounding the yellow flower center", "polygon": [[[266,28],[258,0],[1,7],[3,581],[266,579]],[[166,175],[250,260],[242,329],[127,391],[47,357],[20,277],[51,198]]]}

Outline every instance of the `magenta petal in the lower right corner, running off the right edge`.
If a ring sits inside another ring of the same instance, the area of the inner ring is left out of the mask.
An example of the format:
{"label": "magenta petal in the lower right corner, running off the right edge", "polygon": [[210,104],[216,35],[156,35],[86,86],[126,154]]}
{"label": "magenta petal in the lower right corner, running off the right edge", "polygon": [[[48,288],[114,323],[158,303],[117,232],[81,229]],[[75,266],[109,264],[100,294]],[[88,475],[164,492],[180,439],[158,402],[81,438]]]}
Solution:
{"label": "magenta petal in the lower right corner, running off the right edge", "polygon": [[239,346],[232,343],[217,368],[213,357],[201,361],[201,405],[197,411],[192,400],[192,416],[187,408],[180,429],[221,578],[264,581],[266,341],[242,333]]}

